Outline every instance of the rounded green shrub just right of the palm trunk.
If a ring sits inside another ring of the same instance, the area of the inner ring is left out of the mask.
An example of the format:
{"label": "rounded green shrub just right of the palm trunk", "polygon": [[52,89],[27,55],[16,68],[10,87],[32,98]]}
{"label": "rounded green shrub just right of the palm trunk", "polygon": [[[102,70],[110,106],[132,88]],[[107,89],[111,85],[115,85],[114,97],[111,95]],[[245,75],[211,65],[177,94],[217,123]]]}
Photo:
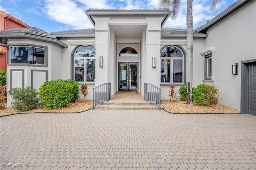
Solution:
{"label": "rounded green shrub just right of the palm trunk", "polygon": [[201,106],[209,106],[217,104],[219,90],[214,85],[199,84],[193,90],[192,95],[193,103]]}

